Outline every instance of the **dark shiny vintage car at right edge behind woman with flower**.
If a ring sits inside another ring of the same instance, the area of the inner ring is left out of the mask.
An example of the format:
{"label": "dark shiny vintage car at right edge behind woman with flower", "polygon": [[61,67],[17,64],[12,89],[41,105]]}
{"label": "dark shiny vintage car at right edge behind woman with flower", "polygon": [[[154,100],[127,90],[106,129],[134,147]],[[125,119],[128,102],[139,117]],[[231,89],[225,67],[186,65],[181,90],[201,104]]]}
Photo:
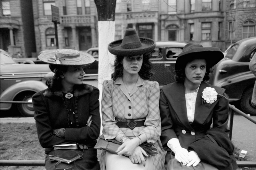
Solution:
{"label": "dark shiny vintage car at right edge behind woman with flower", "polygon": [[256,115],[256,108],[251,103],[256,77],[249,69],[249,62],[255,52],[256,37],[237,41],[215,66],[214,75],[209,81],[226,89],[229,101],[239,101],[241,110],[251,115]]}

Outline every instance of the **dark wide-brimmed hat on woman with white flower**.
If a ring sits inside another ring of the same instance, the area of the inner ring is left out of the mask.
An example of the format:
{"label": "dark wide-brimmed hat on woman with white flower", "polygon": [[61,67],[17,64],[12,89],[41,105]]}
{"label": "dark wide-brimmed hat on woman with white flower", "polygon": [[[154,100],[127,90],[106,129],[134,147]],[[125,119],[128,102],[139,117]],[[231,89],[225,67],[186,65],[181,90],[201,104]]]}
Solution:
{"label": "dark wide-brimmed hat on woman with white flower", "polygon": [[205,59],[206,67],[211,68],[223,59],[223,57],[224,55],[218,47],[203,47],[201,44],[188,43],[178,55],[175,69],[180,69],[187,61],[197,58]]}

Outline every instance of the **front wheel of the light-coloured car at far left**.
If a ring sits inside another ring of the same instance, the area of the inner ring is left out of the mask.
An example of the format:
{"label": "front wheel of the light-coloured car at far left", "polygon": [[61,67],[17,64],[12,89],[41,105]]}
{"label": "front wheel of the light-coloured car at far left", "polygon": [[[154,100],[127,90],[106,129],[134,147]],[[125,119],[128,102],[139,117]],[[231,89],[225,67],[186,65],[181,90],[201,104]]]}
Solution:
{"label": "front wheel of the light-coloured car at far left", "polygon": [[[32,102],[32,96],[35,92],[23,92],[19,94],[16,98],[17,101],[23,102]],[[33,117],[34,116],[34,107],[32,104],[17,104],[17,109],[19,110],[20,114],[24,117]]]}

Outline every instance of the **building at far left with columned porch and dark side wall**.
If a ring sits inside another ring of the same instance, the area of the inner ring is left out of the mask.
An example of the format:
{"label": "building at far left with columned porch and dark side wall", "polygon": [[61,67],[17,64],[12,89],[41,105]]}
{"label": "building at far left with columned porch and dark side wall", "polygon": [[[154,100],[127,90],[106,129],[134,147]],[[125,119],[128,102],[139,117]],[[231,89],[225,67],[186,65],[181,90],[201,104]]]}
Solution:
{"label": "building at far left with columned porch and dark side wall", "polygon": [[0,48],[14,57],[35,57],[32,0],[1,0],[0,17]]}

